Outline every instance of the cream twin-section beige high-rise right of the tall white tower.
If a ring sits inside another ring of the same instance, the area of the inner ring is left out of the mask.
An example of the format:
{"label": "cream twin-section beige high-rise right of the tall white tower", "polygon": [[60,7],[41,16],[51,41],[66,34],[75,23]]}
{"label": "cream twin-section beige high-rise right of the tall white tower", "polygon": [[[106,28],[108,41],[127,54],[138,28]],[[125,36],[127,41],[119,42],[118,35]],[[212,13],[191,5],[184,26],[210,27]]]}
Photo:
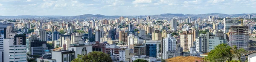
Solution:
{"label": "cream twin-section beige high-rise right of the tall white tower", "polygon": [[190,51],[190,47],[193,46],[193,34],[187,31],[184,31],[180,34],[180,47],[183,48],[183,51]]}

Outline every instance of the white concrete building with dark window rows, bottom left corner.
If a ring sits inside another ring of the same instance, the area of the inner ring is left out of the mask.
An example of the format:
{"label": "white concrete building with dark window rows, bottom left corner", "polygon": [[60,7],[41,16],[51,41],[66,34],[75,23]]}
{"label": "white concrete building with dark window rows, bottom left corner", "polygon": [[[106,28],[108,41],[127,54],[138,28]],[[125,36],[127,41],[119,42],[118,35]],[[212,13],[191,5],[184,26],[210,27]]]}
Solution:
{"label": "white concrete building with dark window rows, bottom left corner", "polygon": [[4,39],[3,62],[27,62],[26,45],[15,45],[14,39]]}

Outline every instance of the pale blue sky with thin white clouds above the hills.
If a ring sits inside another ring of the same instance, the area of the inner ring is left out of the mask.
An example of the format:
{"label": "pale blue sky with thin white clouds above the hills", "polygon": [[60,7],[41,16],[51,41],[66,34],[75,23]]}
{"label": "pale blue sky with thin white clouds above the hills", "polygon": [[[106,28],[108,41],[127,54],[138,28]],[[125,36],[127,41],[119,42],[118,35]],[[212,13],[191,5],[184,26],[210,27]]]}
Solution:
{"label": "pale blue sky with thin white clouds above the hills", "polygon": [[256,13],[256,0],[0,0],[0,16]]}

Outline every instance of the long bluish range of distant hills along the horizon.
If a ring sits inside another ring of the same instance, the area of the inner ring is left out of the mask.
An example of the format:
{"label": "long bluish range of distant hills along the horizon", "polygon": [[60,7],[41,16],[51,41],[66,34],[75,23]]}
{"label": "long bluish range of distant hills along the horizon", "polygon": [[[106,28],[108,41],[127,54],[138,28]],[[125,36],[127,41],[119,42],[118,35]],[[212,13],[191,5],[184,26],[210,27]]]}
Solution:
{"label": "long bluish range of distant hills along the horizon", "polygon": [[[207,14],[181,14],[181,13],[164,13],[160,15],[149,15],[154,18],[172,18],[172,17],[181,17],[181,18],[208,18],[208,16],[217,16],[221,18],[225,17],[239,17],[239,16],[246,16],[248,13],[242,13],[242,14],[223,14],[223,13],[207,13]],[[256,15],[256,13],[249,13],[250,15]],[[101,14],[84,14],[79,16],[30,16],[30,15],[24,15],[24,16],[0,16],[0,19],[116,19],[120,16],[105,16]],[[138,16],[124,16],[128,18],[137,18]],[[145,18],[145,16],[140,16],[140,18]]]}

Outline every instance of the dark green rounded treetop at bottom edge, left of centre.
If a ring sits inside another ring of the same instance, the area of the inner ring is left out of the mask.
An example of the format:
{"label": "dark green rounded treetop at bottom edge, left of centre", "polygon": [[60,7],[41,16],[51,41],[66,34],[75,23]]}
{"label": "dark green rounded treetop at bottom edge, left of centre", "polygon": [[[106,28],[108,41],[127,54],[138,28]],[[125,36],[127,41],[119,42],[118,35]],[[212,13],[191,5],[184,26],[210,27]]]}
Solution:
{"label": "dark green rounded treetop at bottom edge, left of centre", "polygon": [[112,62],[109,54],[100,51],[93,51],[87,55],[78,55],[72,62]]}

